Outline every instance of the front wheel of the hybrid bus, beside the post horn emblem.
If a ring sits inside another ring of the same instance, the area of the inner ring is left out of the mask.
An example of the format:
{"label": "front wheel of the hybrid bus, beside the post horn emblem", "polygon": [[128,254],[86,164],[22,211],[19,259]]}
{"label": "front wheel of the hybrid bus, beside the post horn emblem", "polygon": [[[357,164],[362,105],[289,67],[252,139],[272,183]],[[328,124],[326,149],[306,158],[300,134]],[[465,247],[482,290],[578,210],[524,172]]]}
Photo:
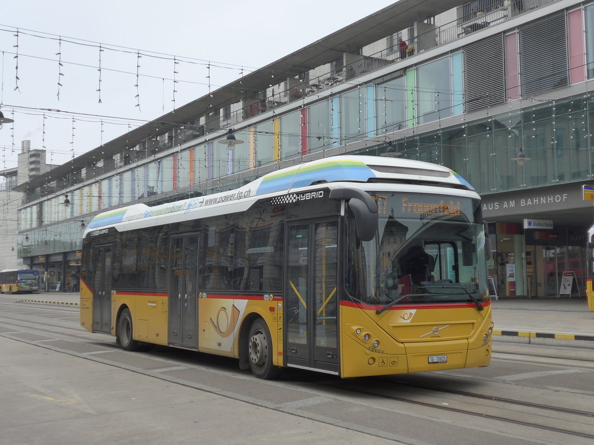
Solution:
{"label": "front wheel of the hybrid bus, beside the post horn emblem", "polygon": [[264,320],[257,319],[249,328],[249,367],[258,379],[271,380],[280,375],[280,368],[272,364],[272,340]]}

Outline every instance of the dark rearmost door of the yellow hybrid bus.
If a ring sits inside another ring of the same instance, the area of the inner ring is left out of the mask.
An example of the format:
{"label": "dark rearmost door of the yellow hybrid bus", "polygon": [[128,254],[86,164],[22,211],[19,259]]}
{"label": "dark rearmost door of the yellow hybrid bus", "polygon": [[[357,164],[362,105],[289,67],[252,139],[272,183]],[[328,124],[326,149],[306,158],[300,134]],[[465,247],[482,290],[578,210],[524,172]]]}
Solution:
{"label": "dark rearmost door of the yellow hybrid bus", "polygon": [[111,332],[112,246],[93,248],[93,332]]}

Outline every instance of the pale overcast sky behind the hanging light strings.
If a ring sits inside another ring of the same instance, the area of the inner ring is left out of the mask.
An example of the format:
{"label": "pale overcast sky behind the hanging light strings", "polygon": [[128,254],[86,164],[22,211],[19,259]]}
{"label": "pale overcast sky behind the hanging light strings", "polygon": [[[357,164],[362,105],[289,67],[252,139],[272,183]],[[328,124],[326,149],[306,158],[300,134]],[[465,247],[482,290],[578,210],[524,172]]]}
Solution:
{"label": "pale overcast sky behind the hanging light strings", "polygon": [[393,3],[3,2],[0,170],[23,139],[64,163]]}

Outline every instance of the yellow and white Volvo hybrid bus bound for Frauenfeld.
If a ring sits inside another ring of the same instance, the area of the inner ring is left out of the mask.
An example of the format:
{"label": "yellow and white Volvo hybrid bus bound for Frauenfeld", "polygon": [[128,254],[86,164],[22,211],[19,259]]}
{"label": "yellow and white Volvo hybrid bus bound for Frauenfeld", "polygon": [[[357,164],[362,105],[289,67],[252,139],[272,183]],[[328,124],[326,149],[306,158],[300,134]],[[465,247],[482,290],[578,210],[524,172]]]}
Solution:
{"label": "yellow and white Volvo hybrid bus bound for Frauenfeld", "polygon": [[340,377],[486,366],[479,195],[443,166],[339,156],[228,192],[97,215],[81,325],[154,345]]}

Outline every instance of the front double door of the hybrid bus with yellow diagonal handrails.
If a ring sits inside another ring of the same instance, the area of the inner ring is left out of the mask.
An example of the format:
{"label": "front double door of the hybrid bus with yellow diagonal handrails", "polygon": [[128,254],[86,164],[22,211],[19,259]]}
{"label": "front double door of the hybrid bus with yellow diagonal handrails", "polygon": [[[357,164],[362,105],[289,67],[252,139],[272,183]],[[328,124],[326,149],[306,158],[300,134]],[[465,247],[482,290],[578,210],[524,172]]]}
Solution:
{"label": "front double door of the hybrid bus with yellow diagonal handrails", "polygon": [[335,220],[287,225],[286,364],[339,373]]}

